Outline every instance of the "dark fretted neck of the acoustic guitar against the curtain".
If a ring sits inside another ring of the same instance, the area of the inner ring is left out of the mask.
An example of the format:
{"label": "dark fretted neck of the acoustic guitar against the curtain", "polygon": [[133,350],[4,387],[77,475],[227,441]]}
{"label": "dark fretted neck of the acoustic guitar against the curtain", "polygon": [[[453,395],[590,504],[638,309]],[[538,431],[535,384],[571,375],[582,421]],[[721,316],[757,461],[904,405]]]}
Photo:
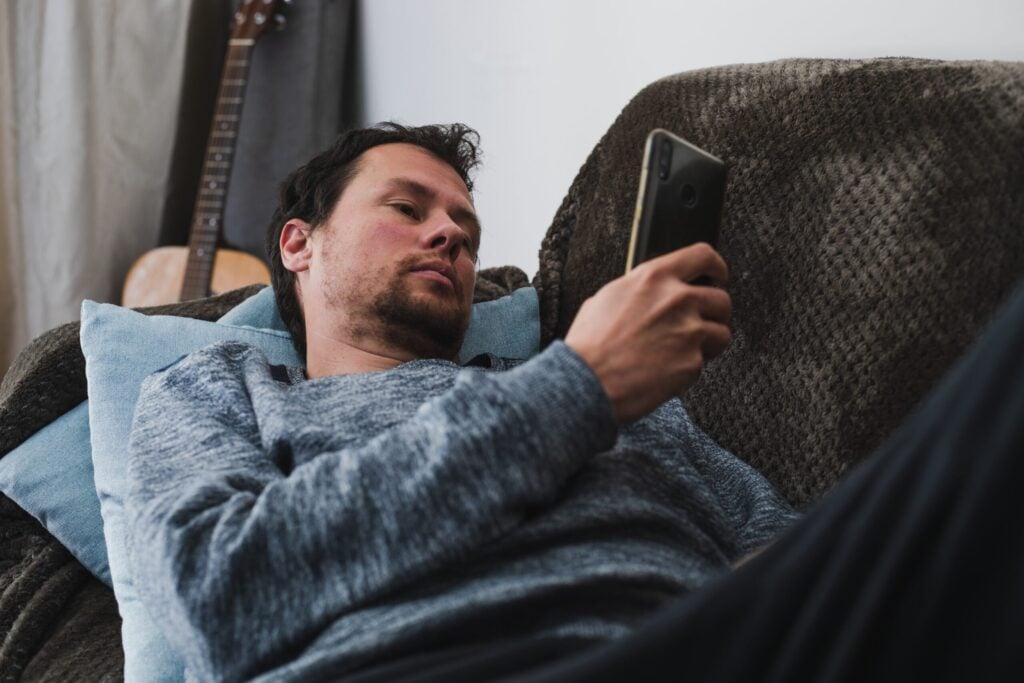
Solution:
{"label": "dark fretted neck of the acoustic guitar against the curtain", "polygon": [[210,126],[203,174],[193,210],[181,301],[210,295],[214,256],[224,224],[227,182],[234,162],[236,141],[242,121],[242,104],[249,81],[254,42],[248,38],[232,38],[227,45],[227,58],[217,92],[217,106]]}

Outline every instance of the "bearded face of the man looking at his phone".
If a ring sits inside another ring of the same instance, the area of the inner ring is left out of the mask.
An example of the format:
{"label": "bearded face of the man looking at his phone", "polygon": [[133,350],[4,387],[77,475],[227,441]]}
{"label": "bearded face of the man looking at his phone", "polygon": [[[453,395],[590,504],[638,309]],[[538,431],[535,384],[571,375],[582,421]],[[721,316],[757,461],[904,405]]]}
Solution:
{"label": "bearded face of the man looking at his phone", "polygon": [[[310,236],[307,334],[454,359],[469,325],[479,241],[455,169],[414,144],[371,147]],[[311,326],[318,314],[327,325]]]}

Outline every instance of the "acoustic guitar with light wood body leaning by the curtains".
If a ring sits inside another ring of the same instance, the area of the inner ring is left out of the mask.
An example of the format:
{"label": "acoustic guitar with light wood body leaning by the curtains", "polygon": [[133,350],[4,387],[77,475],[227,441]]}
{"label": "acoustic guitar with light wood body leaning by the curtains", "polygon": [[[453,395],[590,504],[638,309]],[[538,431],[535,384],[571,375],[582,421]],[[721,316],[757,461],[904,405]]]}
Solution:
{"label": "acoustic guitar with light wood body leaning by the curtains", "polygon": [[285,4],[286,0],[243,0],[239,6],[227,42],[227,58],[217,91],[188,246],[159,247],[139,257],[125,279],[121,305],[157,306],[270,283],[270,272],[263,261],[217,246],[224,224],[227,181],[231,176],[253,45],[269,27],[284,26],[281,10]]}

